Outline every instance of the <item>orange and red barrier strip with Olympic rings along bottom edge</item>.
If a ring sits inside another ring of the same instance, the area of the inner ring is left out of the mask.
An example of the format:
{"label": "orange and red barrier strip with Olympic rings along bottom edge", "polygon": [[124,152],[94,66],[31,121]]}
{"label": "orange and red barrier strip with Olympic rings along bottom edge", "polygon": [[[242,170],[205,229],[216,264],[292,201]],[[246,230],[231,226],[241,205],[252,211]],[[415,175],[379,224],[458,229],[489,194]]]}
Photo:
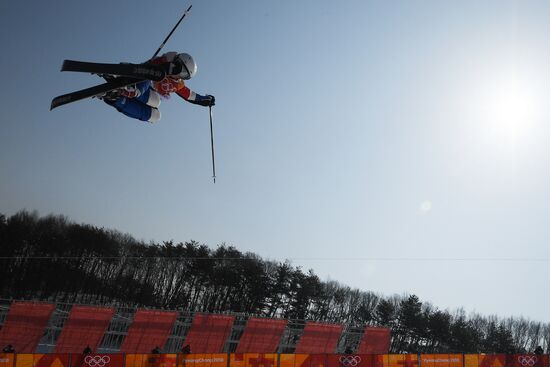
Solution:
{"label": "orange and red barrier strip with Olympic rings along bottom edge", "polygon": [[550,367],[534,354],[11,354],[0,367]]}

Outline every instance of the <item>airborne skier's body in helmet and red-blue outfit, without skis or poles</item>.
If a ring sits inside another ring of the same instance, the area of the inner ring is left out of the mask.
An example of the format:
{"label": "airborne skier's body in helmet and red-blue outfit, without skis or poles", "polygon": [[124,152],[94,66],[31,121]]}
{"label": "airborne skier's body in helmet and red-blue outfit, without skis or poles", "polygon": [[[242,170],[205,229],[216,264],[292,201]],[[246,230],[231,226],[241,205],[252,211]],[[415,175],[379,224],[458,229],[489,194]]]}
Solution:
{"label": "airborne skier's body in helmet and red-blue outfit, without skis or poles", "polygon": [[154,65],[167,65],[168,73],[160,81],[144,80],[135,85],[107,93],[103,101],[128,117],[155,123],[160,120],[158,109],[161,98],[169,98],[175,92],[187,102],[211,107],[215,104],[212,95],[200,95],[189,89],[184,80],[191,79],[197,72],[197,64],[186,53],[167,52],[148,62]]}

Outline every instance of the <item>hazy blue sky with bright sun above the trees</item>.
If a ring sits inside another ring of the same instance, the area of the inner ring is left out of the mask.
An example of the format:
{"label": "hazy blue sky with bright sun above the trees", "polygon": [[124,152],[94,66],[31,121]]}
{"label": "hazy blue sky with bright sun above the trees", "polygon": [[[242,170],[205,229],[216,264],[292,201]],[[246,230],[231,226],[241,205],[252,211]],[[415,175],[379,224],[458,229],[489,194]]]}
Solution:
{"label": "hazy blue sky with bright sun above the trees", "polygon": [[217,98],[215,185],[205,108],[172,98],[154,126],[97,100],[48,110],[100,81],[63,59],[143,61],[188,5],[0,3],[0,212],[550,321],[550,261],[494,260],[550,259],[549,2],[193,2],[165,50]]}

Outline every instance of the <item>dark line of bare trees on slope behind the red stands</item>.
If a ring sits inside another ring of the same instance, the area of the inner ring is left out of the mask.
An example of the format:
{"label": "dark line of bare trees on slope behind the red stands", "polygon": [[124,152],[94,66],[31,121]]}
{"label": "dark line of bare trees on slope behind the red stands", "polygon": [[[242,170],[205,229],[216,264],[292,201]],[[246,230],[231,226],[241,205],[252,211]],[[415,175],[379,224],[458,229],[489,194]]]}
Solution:
{"label": "dark line of bare trees on slope behind the red stands", "polygon": [[[321,281],[289,261],[221,244],[144,243],[62,215],[0,214],[0,297],[243,312],[392,330],[392,353],[548,353],[550,324],[441,310]],[[540,349],[539,349],[540,351]]]}

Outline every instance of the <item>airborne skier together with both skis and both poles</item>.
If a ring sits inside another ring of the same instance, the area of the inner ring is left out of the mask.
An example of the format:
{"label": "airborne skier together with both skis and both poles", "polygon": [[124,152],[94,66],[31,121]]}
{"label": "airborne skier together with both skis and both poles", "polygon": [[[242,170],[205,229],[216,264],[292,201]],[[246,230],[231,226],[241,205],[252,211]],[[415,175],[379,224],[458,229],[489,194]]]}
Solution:
{"label": "airborne skier together with both skis and both poles", "polygon": [[190,103],[209,107],[212,177],[215,183],[216,165],[214,163],[212,106],[214,106],[216,100],[212,95],[203,96],[185,86],[184,80],[191,79],[197,73],[197,64],[195,64],[191,55],[168,52],[157,57],[170,36],[189,13],[191,6],[189,5],[185,10],[152,58],[145,63],[113,64],[64,60],[61,71],[101,75],[107,82],[57,96],[52,99],[50,110],[86,98],[97,97],[126,116],[154,123],[160,120],[158,107],[161,98],[169,98],[170,93],[173,92]]}

